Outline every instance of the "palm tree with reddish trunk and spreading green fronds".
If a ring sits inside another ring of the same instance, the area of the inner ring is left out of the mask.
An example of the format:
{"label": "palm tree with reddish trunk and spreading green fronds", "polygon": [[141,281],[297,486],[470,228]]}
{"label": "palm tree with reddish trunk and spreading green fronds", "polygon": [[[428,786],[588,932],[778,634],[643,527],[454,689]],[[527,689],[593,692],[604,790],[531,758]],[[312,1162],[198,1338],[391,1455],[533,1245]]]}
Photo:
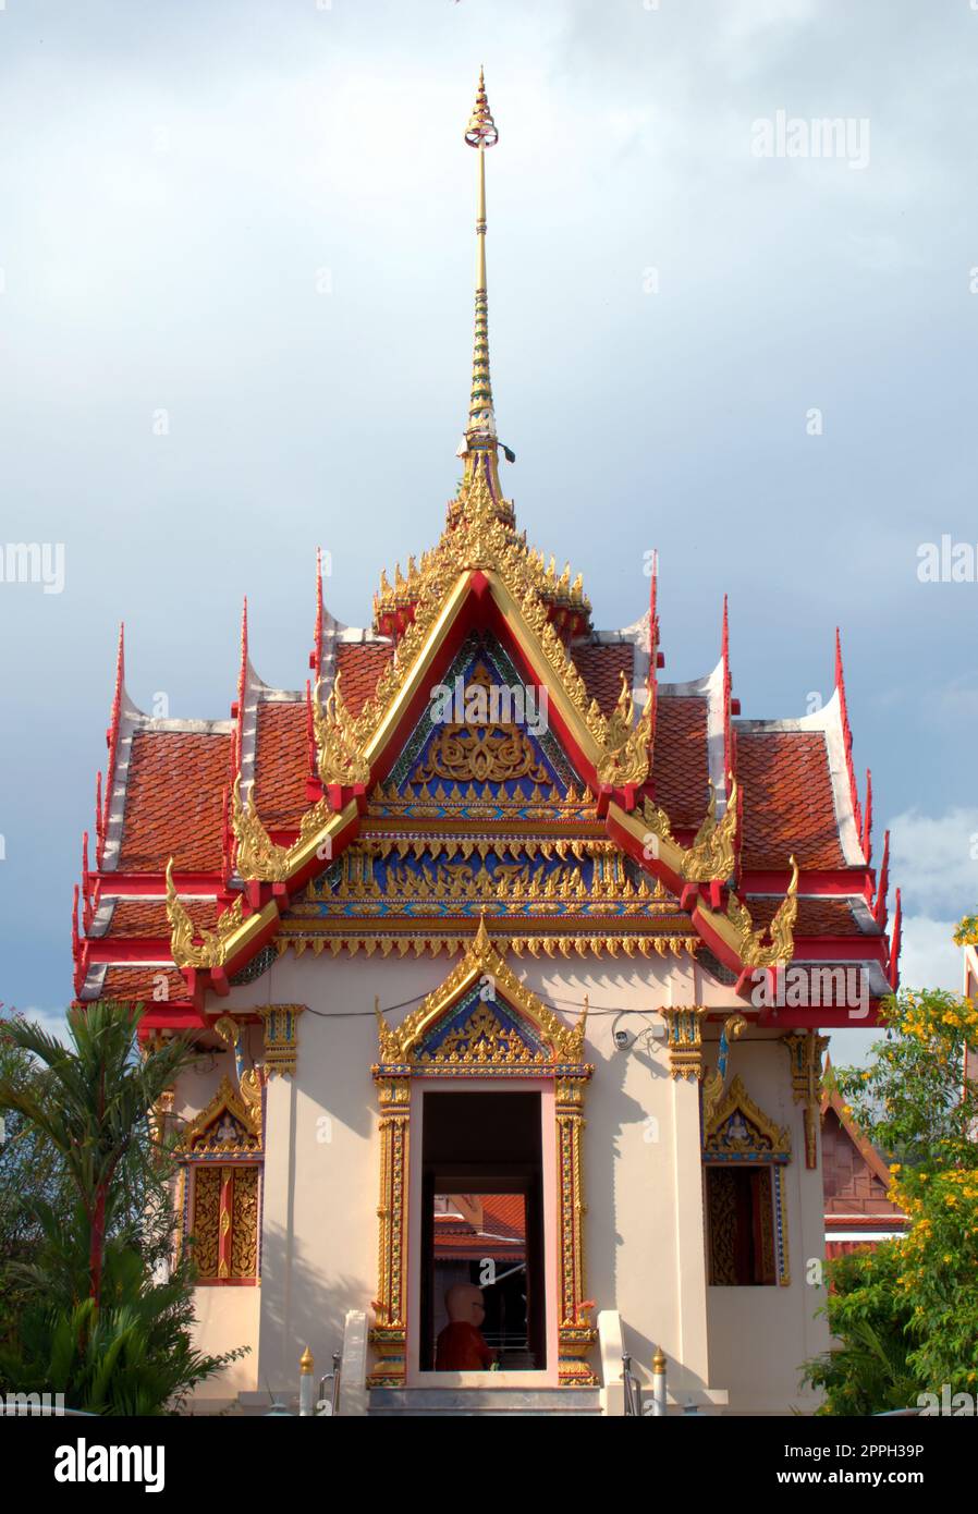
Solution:
{"label": "palm tree with reddish trunk and spreading green fronds", "polygon": [[154,1105],[197,1060],[173,1039],[136,1049],[141,1005],[97,1002],[68,1014],[70,1045],[27,1020],[5,1023],[9,1039],[41,1063],[32,1083],[0,1076],[0,1111],[17,1110],[61,1152],[83,1216],[88,1297],[101,1302],[106,1235],[118,1207],[120,1164],[145,1139]]}

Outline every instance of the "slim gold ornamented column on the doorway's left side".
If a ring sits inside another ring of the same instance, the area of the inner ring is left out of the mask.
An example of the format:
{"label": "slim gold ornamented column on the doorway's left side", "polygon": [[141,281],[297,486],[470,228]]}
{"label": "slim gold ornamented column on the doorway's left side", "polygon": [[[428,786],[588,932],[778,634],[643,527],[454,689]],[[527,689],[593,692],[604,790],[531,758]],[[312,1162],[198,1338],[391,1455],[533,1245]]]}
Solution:
{"label": "slim gold ornamented column on the doorway's left side", "polygon": [[407,1381],[407,1157],[410,1140],[410,1078],[404,1069],[374,1067],[380,1098],[380,1248],[377,1323],[369,1332],[377,1349],[368,1387],[403,1388]]}

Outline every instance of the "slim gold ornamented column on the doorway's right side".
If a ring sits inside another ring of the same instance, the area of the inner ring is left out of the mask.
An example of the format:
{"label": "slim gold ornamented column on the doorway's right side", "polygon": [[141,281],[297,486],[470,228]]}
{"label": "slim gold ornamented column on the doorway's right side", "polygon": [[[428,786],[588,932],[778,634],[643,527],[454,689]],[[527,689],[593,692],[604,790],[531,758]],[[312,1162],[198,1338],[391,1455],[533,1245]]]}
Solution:
{"label": "slim gold ornamented column on the doorway's right side", "polygon": [[559,1163],[559,1287],[560,1325],[557,1329],[557,1378],[563,1387],[593,1387],[596,1378],[587,1352],[598,1338],[589,1311],[593,1301],[584,1297],[584,1214],[581,1176],[581,1131],[584,1128],[586,1076],[557,1079],[557,1163]]}

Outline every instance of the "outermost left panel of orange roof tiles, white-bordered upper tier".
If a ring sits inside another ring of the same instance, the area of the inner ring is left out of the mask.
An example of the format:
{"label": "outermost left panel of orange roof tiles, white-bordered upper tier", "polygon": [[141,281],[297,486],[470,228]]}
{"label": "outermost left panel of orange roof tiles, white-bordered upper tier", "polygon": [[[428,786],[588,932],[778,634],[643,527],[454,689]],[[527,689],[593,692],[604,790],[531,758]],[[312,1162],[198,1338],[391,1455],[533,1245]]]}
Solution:
{"label": "outermost left panel of orange roof tiles, white-bordered upper tier", "polygon": [[230,743],[224,733],[136,731],[120,869],[162,872],[171,855],[177,869],[220,869]]}

